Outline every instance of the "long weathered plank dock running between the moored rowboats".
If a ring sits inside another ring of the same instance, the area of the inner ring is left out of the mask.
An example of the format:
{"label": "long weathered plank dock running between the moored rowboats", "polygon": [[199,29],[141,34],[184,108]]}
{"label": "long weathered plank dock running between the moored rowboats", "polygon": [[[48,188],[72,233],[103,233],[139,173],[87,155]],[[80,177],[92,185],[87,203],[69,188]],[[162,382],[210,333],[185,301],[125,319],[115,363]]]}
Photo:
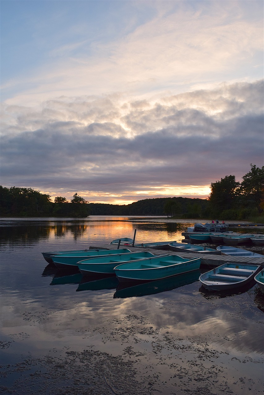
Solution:
{"label": "long weathered plank dock running between the moored rowboats", "polygon": [[[106,248],[107,250],[116,250],[116,245],[100,245],[100,246],[90,246],[89,249],[99,249],[99,248]],[[260,257],[253,257],[253,256],[228,256],[228,255],[214,255],[214,254],[203,254],[199,252],[198,254],[193,252],[176,252],[171,250],[154,250],[153,248],[140,248],[140,247],[132,247],[132,246],[120,246],[120,248],[128,248],[131,252],[142,252],[142,251],[149,251],[155,255],[179,255],[182,258],[201,258],[201,265],[202,266],[213,266],[218,267],[223,265],[226,262],[234,262],[234,263],[245,263],[247,265],[264,265],[264,255],[263,258]]]}

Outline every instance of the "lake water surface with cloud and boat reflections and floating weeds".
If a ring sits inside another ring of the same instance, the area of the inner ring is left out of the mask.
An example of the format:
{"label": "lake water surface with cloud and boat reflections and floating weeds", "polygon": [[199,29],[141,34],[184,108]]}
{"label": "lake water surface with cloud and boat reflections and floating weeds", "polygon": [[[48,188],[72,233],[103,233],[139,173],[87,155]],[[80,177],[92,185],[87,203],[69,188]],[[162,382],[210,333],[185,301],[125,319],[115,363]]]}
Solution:
{"label": "lake water surface with cloud and boat reflections and floating weeds", "polygon": [[[56,270],[41,252],[119,237],[182,241],[155,217],[1,221],[2,393],[262,394],[264,298],[208,294],[200,271],[123,288]],[[77,291],[77,292],[76,292]]]}

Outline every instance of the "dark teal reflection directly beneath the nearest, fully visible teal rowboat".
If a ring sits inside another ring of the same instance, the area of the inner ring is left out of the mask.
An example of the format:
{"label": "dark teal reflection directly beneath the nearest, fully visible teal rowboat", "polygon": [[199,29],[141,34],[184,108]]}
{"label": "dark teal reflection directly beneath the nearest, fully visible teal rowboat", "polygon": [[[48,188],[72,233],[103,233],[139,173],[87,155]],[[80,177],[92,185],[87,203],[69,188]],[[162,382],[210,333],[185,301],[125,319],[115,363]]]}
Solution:
{"label": "dark teal reflection directly beneath the nearest, fully visible teal rowboat", "polygon": [[119,283],[114,293],[114,298],[126,298],[133,296],[152,295],[165,291],[171,291],[184,285],[198,281],[201,272],[194,270],[189,273],[172,276],[162,280],[138,283]]}

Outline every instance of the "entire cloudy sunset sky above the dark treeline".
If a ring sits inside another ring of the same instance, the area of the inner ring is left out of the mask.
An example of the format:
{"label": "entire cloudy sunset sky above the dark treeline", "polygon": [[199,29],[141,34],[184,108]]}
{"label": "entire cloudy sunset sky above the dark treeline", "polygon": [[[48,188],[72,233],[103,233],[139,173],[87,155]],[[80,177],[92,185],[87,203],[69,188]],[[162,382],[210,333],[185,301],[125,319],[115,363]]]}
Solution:
{"label": "entire cloudy sunset sky above the dark treeline", "polygon": [[1,185],[207,198],[263,166],[261,1],[1,0]]}

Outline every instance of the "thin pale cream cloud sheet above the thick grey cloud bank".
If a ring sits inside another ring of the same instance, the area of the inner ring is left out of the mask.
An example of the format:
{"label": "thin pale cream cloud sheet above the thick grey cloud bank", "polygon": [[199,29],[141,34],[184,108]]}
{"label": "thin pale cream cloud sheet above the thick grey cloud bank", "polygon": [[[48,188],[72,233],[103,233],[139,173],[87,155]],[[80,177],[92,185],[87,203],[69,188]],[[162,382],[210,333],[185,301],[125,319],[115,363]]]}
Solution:
{"label": "thin pale cream cloud sheet above the thick grey cloud bank", "polygon": [[49,54],[57,56],[4,81],[2,98],[9,105],[32,106],[59,96],[123,92],[137,101],[166,90],[179,93],[196,85],[262,78],[263,5],[165,1],[145,7],[151,17],[142,23],[131,18],[131,28],[120,25],[118,35],[110,34],[112,40],[109,26],[102,26],[100,40],[88,40],[84,29],[74,42],[52,45]]}

